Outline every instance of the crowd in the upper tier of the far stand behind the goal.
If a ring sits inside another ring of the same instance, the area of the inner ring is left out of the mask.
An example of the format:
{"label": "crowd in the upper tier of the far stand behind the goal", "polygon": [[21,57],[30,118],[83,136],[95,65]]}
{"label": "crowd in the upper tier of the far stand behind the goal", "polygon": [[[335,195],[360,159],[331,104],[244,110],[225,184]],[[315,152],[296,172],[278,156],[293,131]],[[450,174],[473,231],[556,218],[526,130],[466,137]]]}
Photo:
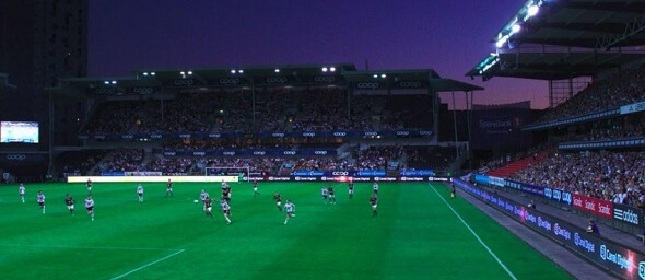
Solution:
{"label": "crowd in the upper tier of the far stand behind the goal", "polygon": [[[255,101],[255,103],[254,103]],[[396,130],[431,127],[425,95],[352,95],[345,89],[177,93],[97,103],[84,133]],[[423,108],[423,109],[421,109]],[[254,122],[255,121],[255,122]]]}

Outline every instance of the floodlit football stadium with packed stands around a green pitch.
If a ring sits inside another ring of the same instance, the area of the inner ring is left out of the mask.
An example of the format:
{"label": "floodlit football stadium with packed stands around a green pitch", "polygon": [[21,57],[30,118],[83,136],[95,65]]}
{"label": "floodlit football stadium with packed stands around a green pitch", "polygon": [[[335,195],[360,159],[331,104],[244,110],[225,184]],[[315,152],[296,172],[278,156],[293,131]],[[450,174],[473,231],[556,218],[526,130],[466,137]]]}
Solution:
{"label": "floodlit football stadium with packed stands around a green pitch", "polygon": [[[54,2],[36,18],[87,16]],[[645,279],[644,11],[527,0],[459,78],[320,62],[25,85],[2,62],[0,278]],[[542,81],[549,107],[476,104],[461,78]]]}

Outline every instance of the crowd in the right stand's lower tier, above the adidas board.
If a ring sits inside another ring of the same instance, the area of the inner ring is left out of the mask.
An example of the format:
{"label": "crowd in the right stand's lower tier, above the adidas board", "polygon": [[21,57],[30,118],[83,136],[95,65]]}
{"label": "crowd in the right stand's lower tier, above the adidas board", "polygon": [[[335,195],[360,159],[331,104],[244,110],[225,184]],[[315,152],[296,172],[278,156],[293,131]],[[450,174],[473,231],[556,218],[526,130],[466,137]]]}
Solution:
{"label": "crowd in the right stand's lower tier, above the adidas board", "polygon": [[548,186],[574,194],[643,207],[645,201],[645,152],[554,153],[511,179]]}

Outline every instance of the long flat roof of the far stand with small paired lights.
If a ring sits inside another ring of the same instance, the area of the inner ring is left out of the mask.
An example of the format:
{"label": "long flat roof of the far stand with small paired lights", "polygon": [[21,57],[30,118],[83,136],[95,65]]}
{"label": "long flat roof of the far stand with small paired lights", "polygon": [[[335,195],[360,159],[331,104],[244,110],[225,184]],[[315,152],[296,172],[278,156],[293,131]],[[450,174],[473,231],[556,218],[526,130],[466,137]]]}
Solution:
{"label": "long flat roof of the far stand with small paired lights", "polygon": [[442,79],[432,69],[357,71],[352,63],[139,69],[133,77],[66,78],[48,89],[59,97],[85,94],[159,93],[250,86],[347,86],[356,90],[479,91],[481,86]]}

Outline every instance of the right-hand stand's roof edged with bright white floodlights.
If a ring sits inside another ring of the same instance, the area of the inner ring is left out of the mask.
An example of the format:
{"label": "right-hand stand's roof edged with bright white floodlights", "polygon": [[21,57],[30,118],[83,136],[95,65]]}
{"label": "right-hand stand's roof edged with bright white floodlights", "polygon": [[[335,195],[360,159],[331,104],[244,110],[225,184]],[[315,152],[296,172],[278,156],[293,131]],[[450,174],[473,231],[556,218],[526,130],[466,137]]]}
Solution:
{"label": "right-hand stand's roof edged with bright white floodlights", "polygon": [[560,80],[645,57],[645,1],[527,0],[466,75]]}

